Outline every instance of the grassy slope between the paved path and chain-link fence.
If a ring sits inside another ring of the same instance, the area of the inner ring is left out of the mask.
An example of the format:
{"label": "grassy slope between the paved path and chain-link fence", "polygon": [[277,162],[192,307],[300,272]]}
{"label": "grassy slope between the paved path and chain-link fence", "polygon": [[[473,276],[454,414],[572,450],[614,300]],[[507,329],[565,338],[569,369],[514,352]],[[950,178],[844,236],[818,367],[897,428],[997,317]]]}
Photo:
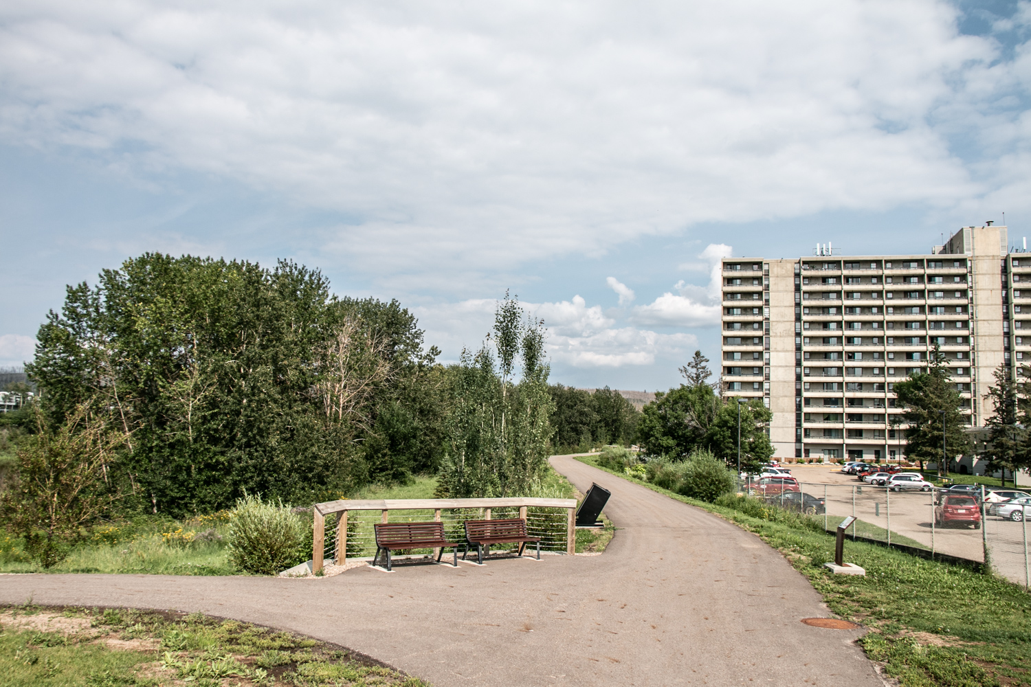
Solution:
{"label": "grassy slope between the paved path and chain-link fence", "polygon": [[[579,459],[598,467],[591,456]],[[845,555],[867,576],[835,576],[823,566],[833,559],[834,538],[828,534],[750,517],[620,476],[716,513],[779,550],[835,613],[875,630],[864,638],[864,647],[903,685],[973,687],[998,684],[996,678],[1031,684],[1031,595],[1021,587],[862,542],[849,542]]]}

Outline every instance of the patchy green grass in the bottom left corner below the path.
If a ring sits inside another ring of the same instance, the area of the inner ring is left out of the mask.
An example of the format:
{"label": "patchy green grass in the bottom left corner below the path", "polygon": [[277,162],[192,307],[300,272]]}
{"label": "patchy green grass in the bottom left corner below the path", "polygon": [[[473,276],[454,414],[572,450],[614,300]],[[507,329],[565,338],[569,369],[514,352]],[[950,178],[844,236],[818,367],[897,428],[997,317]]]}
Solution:
{"label": "patchy green grass in the bottom left corner below the path", "polygon": [[0,612],[6,687],[427,687],[308,638],[200,614],[32,606]]}

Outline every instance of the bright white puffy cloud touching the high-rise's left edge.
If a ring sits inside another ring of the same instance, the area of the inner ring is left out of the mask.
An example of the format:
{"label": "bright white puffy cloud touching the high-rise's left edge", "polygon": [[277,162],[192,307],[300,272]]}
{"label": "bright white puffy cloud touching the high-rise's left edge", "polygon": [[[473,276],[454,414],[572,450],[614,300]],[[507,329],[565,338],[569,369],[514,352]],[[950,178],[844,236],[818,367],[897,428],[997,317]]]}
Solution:
{"label": "bright white puffy cloud touching the high-rise's left edge", "polygon": [[647,305],[634,308],[632,319],[650,327],[712,327],[720,322],[721,259],[733,254],[733,248],[723,243],[710,243],[698,254],[704,260],[709,273],[705,287],[685,283],[681,279],[674,288],[678,294],[666,291]]}

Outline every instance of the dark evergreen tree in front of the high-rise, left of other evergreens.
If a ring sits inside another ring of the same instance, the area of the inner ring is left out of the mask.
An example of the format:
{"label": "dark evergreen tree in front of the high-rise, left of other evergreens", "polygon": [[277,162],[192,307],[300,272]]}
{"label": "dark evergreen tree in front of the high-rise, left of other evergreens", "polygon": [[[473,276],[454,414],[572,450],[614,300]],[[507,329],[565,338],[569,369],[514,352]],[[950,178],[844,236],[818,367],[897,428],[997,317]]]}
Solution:
{"label": "dark evergreen tree in front of the high-rise, left of other evergreens", "polygon": [[895,396],[905,409],[902,422],[906,426],[906,455],[911,460],[936,461],[939,476],[949,474],[949,460],[973,450],[960,412],[962,398],[949,379],[947,365],[935,343],[927,371],[914,372],[895,384]]}

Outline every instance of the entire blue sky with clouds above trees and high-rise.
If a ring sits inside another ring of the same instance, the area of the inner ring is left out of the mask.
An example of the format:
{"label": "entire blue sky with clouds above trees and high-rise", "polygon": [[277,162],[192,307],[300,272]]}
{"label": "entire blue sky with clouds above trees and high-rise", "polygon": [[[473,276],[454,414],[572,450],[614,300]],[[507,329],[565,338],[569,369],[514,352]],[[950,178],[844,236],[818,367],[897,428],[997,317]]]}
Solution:
{"label": "entire blue sky with clouds above trees and high-rise", "polygon": [[164,251],[396,298],[443,362],[510,291],[553,381],[665,389],[719,367],[723,256],[1031,234],[1029,38],[1029,2],[5,0],[0,366]]}

